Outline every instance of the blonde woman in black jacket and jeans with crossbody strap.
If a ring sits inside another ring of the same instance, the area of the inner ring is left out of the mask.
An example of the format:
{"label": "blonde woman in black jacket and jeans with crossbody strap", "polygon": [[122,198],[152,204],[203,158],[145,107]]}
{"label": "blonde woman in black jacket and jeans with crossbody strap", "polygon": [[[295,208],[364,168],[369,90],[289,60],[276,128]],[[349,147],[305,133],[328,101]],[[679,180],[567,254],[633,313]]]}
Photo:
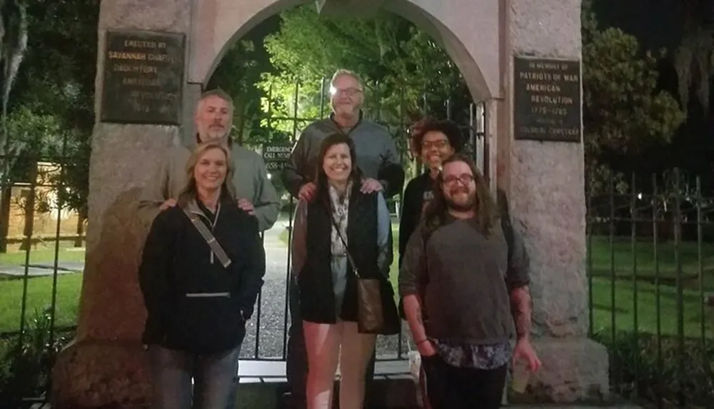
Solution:
{"label": "blonde woman in black jacket and jeans with crossbody strap", "polygon": [[226,183],[231,163],[221,143],[199,145],[178,206],[159,213],[146,238],[139,284],[154,409],[225,409],[237,386],[265,252],[258,220],[238,208]]}

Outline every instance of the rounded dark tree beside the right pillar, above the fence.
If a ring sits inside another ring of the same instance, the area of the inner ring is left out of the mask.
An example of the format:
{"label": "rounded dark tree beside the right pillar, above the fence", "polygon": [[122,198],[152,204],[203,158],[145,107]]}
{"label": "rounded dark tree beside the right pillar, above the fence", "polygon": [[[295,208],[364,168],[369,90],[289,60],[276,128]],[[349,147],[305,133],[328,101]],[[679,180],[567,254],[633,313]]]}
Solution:
{"label": "rounded dark tree beside the right pillar, above the fence", "polygon": [[585,166],[596,189],[598,173],[638,171],[642,162],[633,159],[668,143],[685,115],[671,94],[657,91],[657,60],[634,36],[598,31],[587,3],[582,20]]}

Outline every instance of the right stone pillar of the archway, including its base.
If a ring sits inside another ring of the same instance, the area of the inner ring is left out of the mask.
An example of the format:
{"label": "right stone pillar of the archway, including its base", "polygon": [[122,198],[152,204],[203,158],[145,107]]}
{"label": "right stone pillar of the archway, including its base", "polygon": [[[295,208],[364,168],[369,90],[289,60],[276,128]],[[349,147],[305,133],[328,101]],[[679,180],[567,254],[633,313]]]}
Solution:
{"label": "right stone pillar of the archway, including its base", "polygon": [[580,60],[580,0],[503,1],[509,90],[499,103],[498,185],[531,256],[537,398],[608,395],[608,353],[587,338],[583,143],[513,139],[513,56]]}

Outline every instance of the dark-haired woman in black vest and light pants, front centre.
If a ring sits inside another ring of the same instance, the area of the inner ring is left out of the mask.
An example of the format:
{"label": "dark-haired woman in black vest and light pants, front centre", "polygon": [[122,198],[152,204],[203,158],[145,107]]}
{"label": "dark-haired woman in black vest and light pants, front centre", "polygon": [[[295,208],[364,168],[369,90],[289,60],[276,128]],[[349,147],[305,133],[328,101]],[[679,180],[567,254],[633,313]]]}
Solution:
{"label": "dark-haired woman in black vest and light pants, front centre", "polygon": [[376,335],[358,332],[356,278],[347,253],[362,278],[381,278],[389,286],[389,211],[382,193],[361,192],[362,176],[354,163],[351,138],[335,133],[323,141],[315,200],[298,203],[293,225],[293,273],[308,352],[308,409],[332,407],[338,362],[340,408],[362,408]]}

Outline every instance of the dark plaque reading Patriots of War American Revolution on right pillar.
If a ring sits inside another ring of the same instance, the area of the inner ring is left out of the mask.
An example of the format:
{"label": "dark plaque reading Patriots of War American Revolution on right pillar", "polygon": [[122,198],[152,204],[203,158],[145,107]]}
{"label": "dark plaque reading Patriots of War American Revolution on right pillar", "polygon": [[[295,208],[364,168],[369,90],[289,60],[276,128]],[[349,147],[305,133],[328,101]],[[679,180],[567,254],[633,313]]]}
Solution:
{"label": "dark plaque reading Patriots of War American Revolution on right pillar", "polygon": [[580,61],[514,57],[513,132],[516,139],[583,139]]}

